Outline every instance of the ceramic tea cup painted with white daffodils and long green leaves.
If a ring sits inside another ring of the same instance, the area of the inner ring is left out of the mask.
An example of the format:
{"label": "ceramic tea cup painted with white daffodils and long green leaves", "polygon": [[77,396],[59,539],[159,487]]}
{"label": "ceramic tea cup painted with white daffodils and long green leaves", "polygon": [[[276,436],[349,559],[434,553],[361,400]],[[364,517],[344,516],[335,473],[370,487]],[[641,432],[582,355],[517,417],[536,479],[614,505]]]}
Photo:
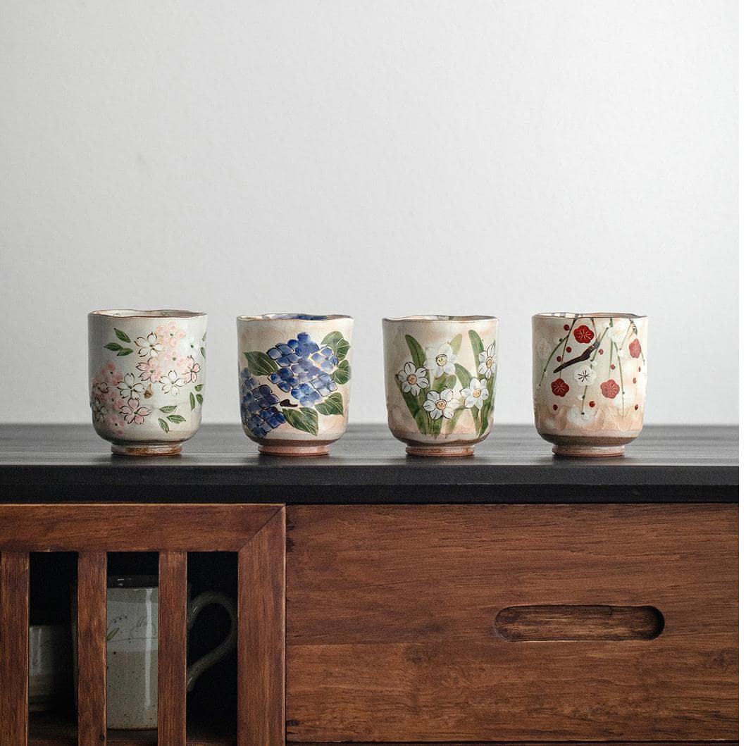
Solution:
{"label": "ceramic tea cup painted with white daffodils and long green leaves", "polygon": [[495,316],[383,319],[386,408],[414,456],[470,456],[492,430]]}

